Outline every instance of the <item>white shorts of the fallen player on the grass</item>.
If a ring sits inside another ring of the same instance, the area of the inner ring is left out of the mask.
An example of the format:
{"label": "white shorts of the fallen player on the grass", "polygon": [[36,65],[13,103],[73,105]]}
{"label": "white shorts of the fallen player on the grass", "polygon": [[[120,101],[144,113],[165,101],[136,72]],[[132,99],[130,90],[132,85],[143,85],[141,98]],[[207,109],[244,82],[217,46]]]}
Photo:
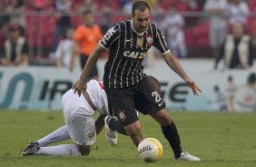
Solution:
{"label": "white shorts of the fallen player on the grass", "polygon": [[92,145],[96,141],[94,109],[74,90],[64,93],[62,98],[64,122],[72,140],[79,145]]}

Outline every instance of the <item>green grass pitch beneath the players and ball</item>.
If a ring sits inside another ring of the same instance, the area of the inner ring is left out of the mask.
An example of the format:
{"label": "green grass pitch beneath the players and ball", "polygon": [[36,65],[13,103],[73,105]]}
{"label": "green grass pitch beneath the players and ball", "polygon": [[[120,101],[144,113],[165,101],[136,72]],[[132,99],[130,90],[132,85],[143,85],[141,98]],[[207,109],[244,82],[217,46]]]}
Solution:
{"label": "green grass pitch beneath the players and ball", "polygon": [[[162,160],[146,163],[138,158],[129,137],[119,134],[118,145],[111,146],[104,139],[104,131],[97,137],[87,157],[20,157],[19,152],[29,141],[43,137],[64,124],[59,111],[0,111],[0,166],[60,166],[60,167],[255,167],[256,113],[170,113],[178,127],[182,148],[202,159],[201,162],[174,161],[161,128],[150,116],[139,115],[143,137],[162,142]],[[59,143],[72,143],[71,140]],[[56,143],[56,144],[59,144]]]}

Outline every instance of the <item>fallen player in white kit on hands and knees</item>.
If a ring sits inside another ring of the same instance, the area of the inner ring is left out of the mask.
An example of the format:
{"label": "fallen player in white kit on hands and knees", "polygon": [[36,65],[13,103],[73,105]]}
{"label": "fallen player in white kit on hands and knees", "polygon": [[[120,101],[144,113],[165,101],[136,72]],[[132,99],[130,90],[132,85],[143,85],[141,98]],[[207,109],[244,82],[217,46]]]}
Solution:
{"label": "fallen player in white kit on hands and knees", "polygon": [[[36,142],[30,142],[21,155],[88,155],[90,153],[96,134],[103,129],[103,118],[111,114],[103,83],[91,80],[87,83],[86,92],[81,96],[70,89],[64,93],[62,104],[66,125]],[[101,115],[95,122],[96,110]],[[114,131],[108,131],[106,130],[106,135],[110,136],[107,139],[115,145],[117,134]],[[74,144],[47,146],[69,138],[72,138]]]}

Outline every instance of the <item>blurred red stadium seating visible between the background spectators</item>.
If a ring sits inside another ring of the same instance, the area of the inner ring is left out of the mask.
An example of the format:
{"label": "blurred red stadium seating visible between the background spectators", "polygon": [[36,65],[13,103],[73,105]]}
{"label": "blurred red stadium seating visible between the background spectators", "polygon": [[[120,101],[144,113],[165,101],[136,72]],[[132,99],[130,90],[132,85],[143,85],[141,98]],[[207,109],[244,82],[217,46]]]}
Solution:
{"label": "blurred red stadium seating visible between the background spectators", "polygon": [[[30,58],[37,56],[47,58],[50,52],[50,47],[52,44],[54,28],[56,25],[56,17],[54,16],[55,0],[25,0],[25,37],[28,41],[30,47]],[[83,23],[81,18],[81,10],[79,7],[84,5],[85,0],[75,0],[72,1],[72,11],[71,11],[71,23],[74,27]],[[102,13],[104,3],[110,3],[112,7],[112,18],[110,19],[112,23],[122,21],[123,19],[129,18],[127,15],[123,15],[122,6],[123,2],[121,0],[94,0],[96,22],[101,23]],[[127,2],[127,1],[125,1]],[[185,41],[189,50],[189,58],[193,57],[211,57],[211,54],[201,55],[203,50],[209,48],[208,31],[209,31],[209,21],[207,18],[202,18],[202,6],[205,0],[158,0],[163,11],[168,9],[168,6],[174,4],[178,11],[180,11],[185,18],[186,26],[184,28]],[[255,34],[256,29],[256,1],[247,0],[251,17],[247,21],[247,33]],[[10,5],[10,1],[1,1],[5,5]],[[5,12],[5,11],[4,11]],[[194,12],[194,13],[193,13]],[[190,15],[192,14],[192,15]],[[0,15],[1,16],[1,15]],[[3,44],[5,41],[5,29],[0,31],[0,51],[3,49]],[[61,39],[61,38],[60,38]],[[199,54],[200,55],[199,55]]]}

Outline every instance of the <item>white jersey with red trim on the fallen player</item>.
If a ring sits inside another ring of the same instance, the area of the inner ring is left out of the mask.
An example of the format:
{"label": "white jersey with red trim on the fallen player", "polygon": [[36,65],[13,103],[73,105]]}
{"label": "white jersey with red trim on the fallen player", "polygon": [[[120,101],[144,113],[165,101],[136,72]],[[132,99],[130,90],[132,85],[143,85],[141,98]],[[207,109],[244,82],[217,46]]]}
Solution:
{"label": "white jersey with red trim on the fallen player", "polygon": [[86,92],[89,94],[92,103],[94,103],[94,106],[99,113],[107,115],[110,114],[103,82],[91,80],[87,83]]}

